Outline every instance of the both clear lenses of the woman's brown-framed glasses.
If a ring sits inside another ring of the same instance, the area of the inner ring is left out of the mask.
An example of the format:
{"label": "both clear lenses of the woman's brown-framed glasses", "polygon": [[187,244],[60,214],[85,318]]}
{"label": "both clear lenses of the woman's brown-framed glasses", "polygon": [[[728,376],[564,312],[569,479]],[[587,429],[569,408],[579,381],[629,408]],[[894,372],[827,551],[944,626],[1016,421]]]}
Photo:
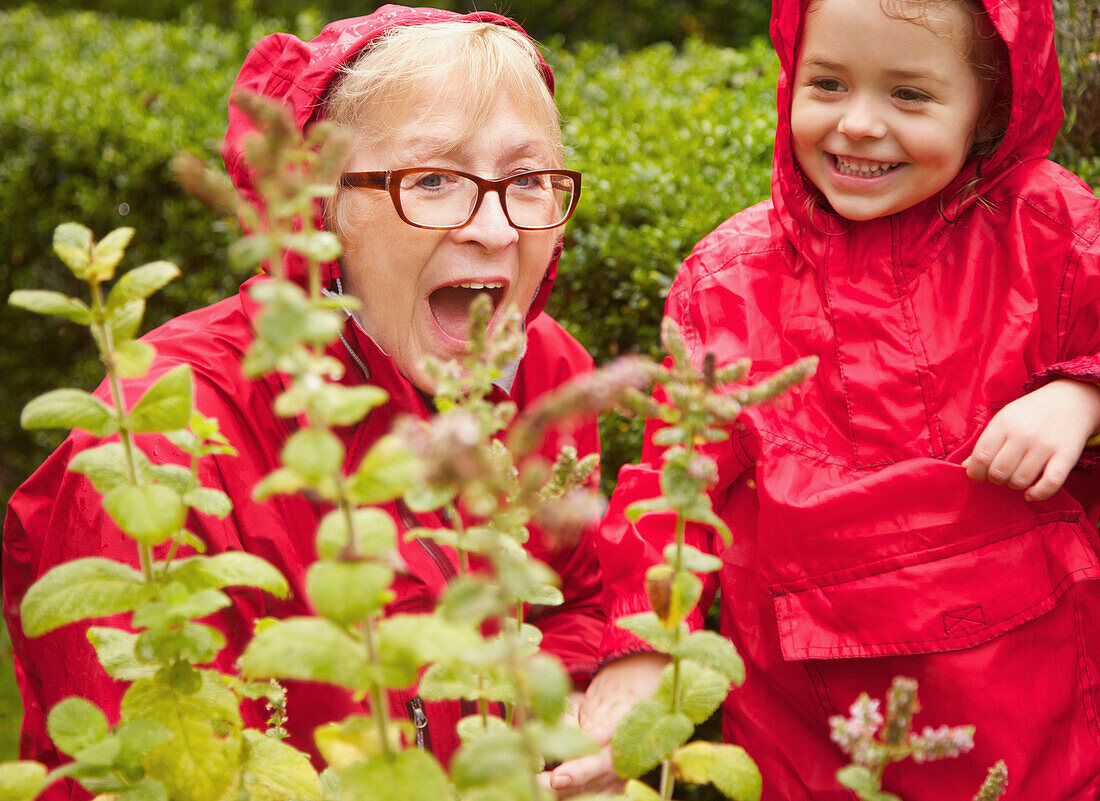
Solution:
{"label": "both clear lenses of the woman's brown-framed glasses", "polygon": [[[522,175],[506,186],[504,204],[514,224],[550,228],[565,220],[573,191],[573,179],[568,175]],[[418,171],[402,177],[400,198],[402,210],[411,222],[461,226],[477,201],[477,184],[461,175]]]}

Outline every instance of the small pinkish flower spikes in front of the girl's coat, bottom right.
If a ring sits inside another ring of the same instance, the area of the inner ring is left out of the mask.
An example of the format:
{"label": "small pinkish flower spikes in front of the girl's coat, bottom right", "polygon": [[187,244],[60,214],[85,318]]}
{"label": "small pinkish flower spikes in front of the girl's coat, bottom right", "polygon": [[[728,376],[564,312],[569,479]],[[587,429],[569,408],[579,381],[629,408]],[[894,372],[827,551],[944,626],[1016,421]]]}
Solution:
{"label": "small pinkish flower spikes in front of the girl's coat, bottom right", "polygon": [[[851,764],[837,771],[837,780],[862,801],[901,801],[882,790],[882,773],[891,762],[912,759],[927,762],[958,757],[974,748],[974,726],[925,726],[913,731],[913,717],[921,710],[914,679],[895,677],[887,693],[887,711],[866,692],[848,710],[848,716],[829,717],[832,738],[851,756]],[[989,770],[972,801],[996,801],[1008,783],[1003,761]]]}

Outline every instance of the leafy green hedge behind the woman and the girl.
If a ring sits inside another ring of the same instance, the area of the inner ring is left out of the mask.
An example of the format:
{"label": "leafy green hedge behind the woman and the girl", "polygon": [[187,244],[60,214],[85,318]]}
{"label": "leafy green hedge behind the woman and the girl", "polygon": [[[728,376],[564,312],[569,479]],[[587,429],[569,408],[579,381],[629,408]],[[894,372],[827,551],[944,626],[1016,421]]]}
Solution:
{"label": "leafy green hedge behind the woman and the girl", "polygon": [[[0,297],[75,292],[50,252],[55,226],[138,229],[129,265],[175,261],[157,325],[218,300],[245,277],[226,246],[235,220],[174,185],[191,150],[220,163],[228,91],[265,33],[312,36],[374,4],[315,0],[0,0]],[[1054,157],[1100,187],[1100,6],[1054,0],[1067,128]],[[453,0],[441,7],[466,10]],[[482,8],[490,4],[480,3]],[[776,59],[768,0],[515,0],[501,10],[547,44],[570,166],[585,175],[550,311],[597,363],[656,352],[664,293],[703,234],[768,194]],[[75,326],[0,305],[0,501],[55,447],[19,428],[34,395],[102,375]],[[638,430],[604,425],[605,487],[636,458]],[[0,759],[15,753],[19,704],[0,630]]]}

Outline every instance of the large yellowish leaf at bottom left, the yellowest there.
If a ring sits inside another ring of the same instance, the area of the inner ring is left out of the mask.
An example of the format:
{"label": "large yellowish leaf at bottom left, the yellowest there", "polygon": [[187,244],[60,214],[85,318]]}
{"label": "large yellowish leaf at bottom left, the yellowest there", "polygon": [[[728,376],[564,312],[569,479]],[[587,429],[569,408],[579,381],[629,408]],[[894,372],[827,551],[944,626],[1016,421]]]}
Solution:
{"label": "large yellowish leaf at bottom left, the yellowest there", "polygon": [[121,723],[152,721],[170,733],[143,760],[169,798],[219,801],[237,780],[241,715],[220,677],[200,676],[191,693],[153,679],[135,681],[122,696]]}

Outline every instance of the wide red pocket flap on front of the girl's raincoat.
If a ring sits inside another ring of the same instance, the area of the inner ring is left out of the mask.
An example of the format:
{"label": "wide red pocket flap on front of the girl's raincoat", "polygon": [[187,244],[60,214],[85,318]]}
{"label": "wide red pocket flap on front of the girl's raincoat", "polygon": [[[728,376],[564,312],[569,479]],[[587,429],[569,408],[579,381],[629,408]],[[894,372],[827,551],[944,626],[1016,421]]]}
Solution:
{"label": "wide red pocket flap on front of the girl's raincoat", "polygon": [[1075,582],[1100,578],[1096,538],[1078,515],[1052,512],[957,545],[773,585],[783,658],[986,643],[1049,612]]}

